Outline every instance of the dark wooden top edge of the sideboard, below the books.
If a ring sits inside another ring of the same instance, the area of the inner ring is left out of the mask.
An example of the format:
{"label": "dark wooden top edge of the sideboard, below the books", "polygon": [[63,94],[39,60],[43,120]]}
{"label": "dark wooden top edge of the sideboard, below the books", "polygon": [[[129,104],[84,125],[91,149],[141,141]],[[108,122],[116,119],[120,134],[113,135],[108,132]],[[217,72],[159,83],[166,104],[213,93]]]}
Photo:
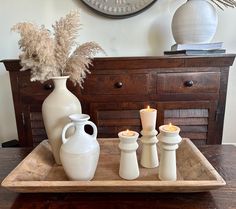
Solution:
{"label": "dark wooden top edge of the sideboard, below the books", "polygon": [[[92,70],[96,69],[141,69],[145,68],[175,68],[175,67],[228,67],[232,66],[236,54],[220,54],[208,56],[140,56],[140,57],[98,57],[94,58]],[[18,71],[21,69],[19,59],[1,60],[8,71]],[[133,64],[132,64],[133,62]]]}

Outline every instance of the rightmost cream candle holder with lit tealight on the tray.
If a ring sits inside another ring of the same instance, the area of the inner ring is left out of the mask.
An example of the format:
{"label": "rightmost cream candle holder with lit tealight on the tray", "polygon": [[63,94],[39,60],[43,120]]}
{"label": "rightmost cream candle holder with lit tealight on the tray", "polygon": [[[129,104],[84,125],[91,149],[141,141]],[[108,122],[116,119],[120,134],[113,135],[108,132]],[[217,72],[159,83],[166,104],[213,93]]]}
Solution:
{"label": "rightmost cream candle holder with lit tealight on the tray", "polygon": [[161,147],[159,178],[163,181],[176,181],[176,150],[182,140],[179,135],[180,128],[169,124],[160,126],[159,130],[160,133],[157,135]]}

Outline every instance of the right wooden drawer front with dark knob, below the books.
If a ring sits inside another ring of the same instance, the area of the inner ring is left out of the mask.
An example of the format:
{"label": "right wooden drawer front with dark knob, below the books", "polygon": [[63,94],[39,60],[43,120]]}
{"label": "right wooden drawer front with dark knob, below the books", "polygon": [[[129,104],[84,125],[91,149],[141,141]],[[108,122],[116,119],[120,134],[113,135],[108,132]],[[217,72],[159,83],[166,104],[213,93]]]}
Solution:
{"label": "right wooden drawer front with dark knob, below the books", "polygon": [[218,93],[220,72],[157,74],[157,93]]}

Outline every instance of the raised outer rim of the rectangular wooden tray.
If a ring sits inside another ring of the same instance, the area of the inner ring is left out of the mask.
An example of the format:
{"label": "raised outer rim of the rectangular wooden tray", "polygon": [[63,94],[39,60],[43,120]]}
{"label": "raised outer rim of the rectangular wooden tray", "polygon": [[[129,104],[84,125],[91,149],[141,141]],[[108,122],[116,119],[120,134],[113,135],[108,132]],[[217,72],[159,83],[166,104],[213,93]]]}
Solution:
{"label": "raised outer rim of the rectangular wooden tray", "polygon": [[[99,140],[117,140],[117,138],[100,138]],[[43,140],[37,147],[35,147],[2,181],[1,186],[5,187],[11,191],[26,193],[27,188],[30,192],[117,192],[112,191],[112,188],[126,188],[130,187],[132,192],[199,192],[199,191],[209,191],[212,189],[217,189],[219,187],[225,186],[225,180],[220,176],[220,174],[215,170],[211,163],[206,159],[206,157],[200,152],[200,150],[193,144],[193,142],[188,138],[183,138],[186,143],[193,149],[201,161],[204,161],[205,166],[211,171],[216,180],[178,180],[178,181],[156,181],[156,180],[96,180],[96,181],[12,181],[11,176],[21,168],[21,165],[31,158],[37,149],[40,149],[42,143],[48,143],[48,140]],[[114,185],[115,182],[115,185]],[[196,182],[198,183],[196,185]],[[53,184],[53,185],[52,185]],[[49,186],[50,185],[50,186]],[[136,188],[138,187],[138,188]],[[176,188],[174,190],[168,188]],[[185,187],[183,191],[179,190],[179,187]],[[192,191],[190,188],[196,188],[196,191]],[[150,188],[150,189],[147,189]],[[153,191],[151,188],[156,188]],[[158,189],[159,188],[159,189]],[[189,189],[188,189],[189,188]],[[198,190],[199,188],[199,190]],[[210,188],[210,189],[209,189]],[[126,188],[127,189],[127,188]],[[101,191],[100,191],[101,190]],[[127,189],[129,190],[129,189]],[[149,191],[150,190],[150,191]],[[29,192],[28,191],[28,192]],[[120,192],[120,191],[119,191]],[[130,192],[130,191],[123,191]]]}

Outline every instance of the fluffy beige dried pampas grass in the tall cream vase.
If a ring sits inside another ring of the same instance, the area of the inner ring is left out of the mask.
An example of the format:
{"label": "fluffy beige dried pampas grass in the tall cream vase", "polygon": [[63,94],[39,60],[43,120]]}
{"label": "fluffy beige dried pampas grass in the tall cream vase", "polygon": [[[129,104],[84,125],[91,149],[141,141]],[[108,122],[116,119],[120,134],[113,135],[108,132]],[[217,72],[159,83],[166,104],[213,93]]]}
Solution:
{"label": "fluffy beige dried pampas grass in the tall cream vase", "polygon": [[[18,23],[12,31],[21,36],[19,46],[22,70],[31,70],[31,81],[44,82],[54,76],[70,75],[82,87],[91,59],[103,49],[95,42],[79,45],[76,42],[80,29],[78,11],[72,11],[56,21],[51,34],[44,26]],[[75,49],[74,49],[75,48]],[[74,49],[74,51],[72,51]]]}

